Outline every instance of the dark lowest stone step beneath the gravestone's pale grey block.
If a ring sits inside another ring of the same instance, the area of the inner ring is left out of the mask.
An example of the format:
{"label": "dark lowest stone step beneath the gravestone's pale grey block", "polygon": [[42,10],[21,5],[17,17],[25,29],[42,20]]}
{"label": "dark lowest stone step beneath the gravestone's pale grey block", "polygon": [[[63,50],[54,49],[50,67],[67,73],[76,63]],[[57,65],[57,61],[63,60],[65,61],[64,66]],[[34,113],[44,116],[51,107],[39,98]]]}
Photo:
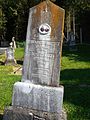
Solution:
{"label": "dark lowest stone step beneath the gravestone's pale grey block", "polygon": [[[38,113],[41,116],[38,116]],[[61,112],[59,119],[55,118],[53,113],[51,114],[52,117],[48,118],[48,114],[50,113],[11,106],[5,108],[3,120],[67,120],[67,115],[64,111]]]}

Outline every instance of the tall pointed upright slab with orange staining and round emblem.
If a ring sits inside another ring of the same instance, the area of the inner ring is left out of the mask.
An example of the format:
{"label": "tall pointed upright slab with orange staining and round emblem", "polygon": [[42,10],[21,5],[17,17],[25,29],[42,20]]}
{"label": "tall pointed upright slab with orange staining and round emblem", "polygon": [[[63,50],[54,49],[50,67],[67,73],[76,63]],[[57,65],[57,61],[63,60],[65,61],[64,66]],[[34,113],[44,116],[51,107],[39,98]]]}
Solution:
{"label": "tall pointed upright slab with orange staining and round emblem", "polygon": [[30,9],[22,81],[59,86],[64,12],[50,1]]}

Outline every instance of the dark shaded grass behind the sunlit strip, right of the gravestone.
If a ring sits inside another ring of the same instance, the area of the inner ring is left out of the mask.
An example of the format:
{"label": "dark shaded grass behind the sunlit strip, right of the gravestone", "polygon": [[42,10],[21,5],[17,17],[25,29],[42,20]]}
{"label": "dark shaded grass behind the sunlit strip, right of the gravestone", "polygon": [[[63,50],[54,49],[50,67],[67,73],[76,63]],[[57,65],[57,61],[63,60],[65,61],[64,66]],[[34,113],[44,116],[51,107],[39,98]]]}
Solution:
{"label": "dark shaded grass behind the sunlit strip, right of the gravestone", "polygon": [[69,51],[63,47],[62,55],[70,60],[90,62],[90,45],[77,46],[77,51]]}

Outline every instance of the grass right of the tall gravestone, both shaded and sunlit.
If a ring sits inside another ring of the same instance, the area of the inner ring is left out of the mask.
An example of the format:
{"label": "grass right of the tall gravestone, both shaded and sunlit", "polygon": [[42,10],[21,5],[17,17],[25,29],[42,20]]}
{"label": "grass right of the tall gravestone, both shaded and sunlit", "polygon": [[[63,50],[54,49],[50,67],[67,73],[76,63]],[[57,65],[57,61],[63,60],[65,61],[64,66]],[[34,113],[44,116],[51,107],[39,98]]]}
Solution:
{"label": "grass right of the tall gravestone, both shaded and sunlit", "polygon": [[90,120],[90,45],[63,50],[61,84],[68,120]]}

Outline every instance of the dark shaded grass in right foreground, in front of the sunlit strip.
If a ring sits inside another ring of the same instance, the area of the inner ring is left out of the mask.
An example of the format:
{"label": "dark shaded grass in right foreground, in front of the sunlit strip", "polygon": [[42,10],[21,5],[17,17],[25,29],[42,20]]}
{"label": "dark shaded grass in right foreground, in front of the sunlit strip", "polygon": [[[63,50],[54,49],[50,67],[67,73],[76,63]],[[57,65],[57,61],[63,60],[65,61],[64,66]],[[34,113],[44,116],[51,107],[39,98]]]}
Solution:
{"label": "dark shaded grass in right foreground, in front of the sunlit strip", "polygon": [[90,120],[90,69],[62,70],[61,84],[68,120]]}

